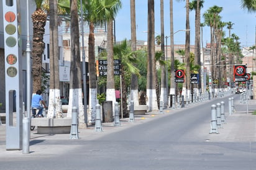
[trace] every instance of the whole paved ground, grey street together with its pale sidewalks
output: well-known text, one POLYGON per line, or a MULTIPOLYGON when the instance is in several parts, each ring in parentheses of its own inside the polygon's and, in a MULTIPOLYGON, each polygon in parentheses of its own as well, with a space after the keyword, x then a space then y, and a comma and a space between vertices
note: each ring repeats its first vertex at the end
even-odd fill
POLYGON ((6 151, 5 125, 0 126, 1 169, 255 169, 256 101, 241 104, 239 95, 225 96, 164 114, 136 115, 135 122, 121 119, 121 127, 103 123, 69 134, 31 132, 30 153, 6 151), (235 113, 228 114, 228 99, 235 113), (209 134, 211 105, 225 102, 226 124, 209 134), (247 114, 248 108, 248 114, 247 114))

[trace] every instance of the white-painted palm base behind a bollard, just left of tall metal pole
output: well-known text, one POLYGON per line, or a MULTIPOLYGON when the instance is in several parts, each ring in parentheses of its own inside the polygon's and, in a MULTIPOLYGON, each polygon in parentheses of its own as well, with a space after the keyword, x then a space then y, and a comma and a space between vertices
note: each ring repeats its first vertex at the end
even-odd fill
POLYGON ((67 117, 72 115, 72 107, 77 108, 78 123, 80 128, 85 128, 85 110, 83 105, 82 89, 70 89, 70 99, 68 102, 68 114, 67 117))

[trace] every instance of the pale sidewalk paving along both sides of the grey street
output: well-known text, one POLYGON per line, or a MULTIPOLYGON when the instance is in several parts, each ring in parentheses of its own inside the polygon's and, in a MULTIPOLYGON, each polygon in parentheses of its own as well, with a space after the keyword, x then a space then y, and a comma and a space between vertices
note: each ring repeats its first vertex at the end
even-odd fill
MULTIPOLYGON (((205 103, 201 103, 205 104, 205 103)), ((196 107, 196 105, 190 105, 183 109, 191 109, 196 107)), ((249 100, 249 114, 247 114, 247 105, 240 104, 239 101, 235 101, 235 113, 228 115, 226 112, 226 124, 224 128, 219 129, 219 134, 208 134, 207 132, 203 134, 206 140, 218 142, 239 142, 239 141, 256 141, 256 115, 252 115, 252 112, 256 110, 256 100, 249 100)), ((89 126, 86 129, 78 130, 78 140, 70 140, 70 134, 55 134, 55 135, 39 135, 37 134, 37 129, 30 133, 30 154, 31 156, 43 154, 53 154, 54 152, 63 153, 68 152, 75 148, 79 143, 84 143, 86 140, 96 140, 109 133, 118 132, 135 125, 139 125, 144 122, 149 122, 151 120, 157 119, 158 117, 164 117, 170 114, 175 114, 181 109, 172 110, 171 108, 163 110, 163 114, 159 112, 150 112, 145 115, 135 115, 135 122, 130 123, 129 118, 120 119, 121 126, 115 127, 114 122, 102 123, 103 132, 94 132, 94 125, 89 126), (44 145, 38 145, 39 143, 44 143, 44 145), (76 145, 77 144, 77 145, 76 145)), ((210 115, 209 115, 210 117, 210 115)), ((206 122, 202 126, 209 129, 210 122, 206 122)), ((0 158, 11 156, 19 157, 22 155, 22 150, 6 151, 6 125, 2 124, 0 126, 0 158), (3 153, 3 154, 2 154, 3 153)))

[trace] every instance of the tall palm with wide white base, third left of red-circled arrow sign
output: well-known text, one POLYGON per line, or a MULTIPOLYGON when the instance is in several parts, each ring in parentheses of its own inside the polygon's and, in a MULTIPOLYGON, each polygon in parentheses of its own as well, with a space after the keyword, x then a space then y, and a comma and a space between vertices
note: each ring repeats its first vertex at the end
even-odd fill
POLYGON ((155 89, 155 2, 148 0, 148 60, 147 60, 147 105, 149 111, 158 110, 157 93, 155 89))

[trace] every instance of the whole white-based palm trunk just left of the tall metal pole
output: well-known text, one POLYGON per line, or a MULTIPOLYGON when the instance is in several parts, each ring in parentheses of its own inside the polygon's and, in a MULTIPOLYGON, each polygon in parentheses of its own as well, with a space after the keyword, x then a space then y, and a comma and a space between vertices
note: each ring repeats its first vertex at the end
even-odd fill
POLYGON ((82 102, 81 69, 80 69, 80 43, 78 27, 78 2, 70 0, 70 35, 71 35, 71 64, 70 64, 70 101, 68 104, 68 116, 72 107, 76 107, 79 115, 79 127, 85 128, 85 112, 82 102))

